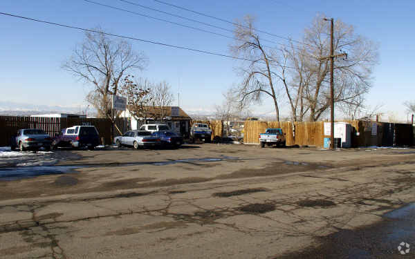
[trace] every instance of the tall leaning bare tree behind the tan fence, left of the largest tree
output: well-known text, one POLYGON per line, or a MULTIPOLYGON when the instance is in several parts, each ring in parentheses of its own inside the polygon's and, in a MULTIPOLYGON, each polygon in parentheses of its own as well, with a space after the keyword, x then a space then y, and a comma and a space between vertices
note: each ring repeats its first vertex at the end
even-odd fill
POLYGON ((275 74, 272 71, 275 63, 275 52, 262 45, 261 39, 253 26, 252 17, 246 16, 238 21, 234 28, 234 44, 230 51, 235 57, 246 59, 240 70, 243 82, 237 88, 241 106, 261 102, 265 97, 271 97, 275 106, 275 117, 279 122, 278 91, 275 84, 275 74))

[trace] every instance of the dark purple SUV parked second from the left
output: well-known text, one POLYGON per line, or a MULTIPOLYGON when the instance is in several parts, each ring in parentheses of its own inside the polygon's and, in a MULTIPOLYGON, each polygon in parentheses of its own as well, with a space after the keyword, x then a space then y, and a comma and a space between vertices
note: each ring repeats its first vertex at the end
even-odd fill
POLYGON ((93 150, 100 144, 100 134, 95 126, 73 126, 63 128, 62 131, 53 138, 52 148, 57 147, 87 147, 93 150))

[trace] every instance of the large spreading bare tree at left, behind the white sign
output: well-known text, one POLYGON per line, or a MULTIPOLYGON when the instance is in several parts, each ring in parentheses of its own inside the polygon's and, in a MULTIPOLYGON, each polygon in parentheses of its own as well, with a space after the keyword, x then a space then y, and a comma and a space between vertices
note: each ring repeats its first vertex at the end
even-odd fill
POLYGON ((99 117, 113 120, 110 95, 118 93, 122 76, 144 68, 147 58, 133 52, 127 41, 111 39, 100 28, 95 31, 86 32, 84 42, 76 46, 63 68, 93 85, 86 101, 95 107, 99 117))

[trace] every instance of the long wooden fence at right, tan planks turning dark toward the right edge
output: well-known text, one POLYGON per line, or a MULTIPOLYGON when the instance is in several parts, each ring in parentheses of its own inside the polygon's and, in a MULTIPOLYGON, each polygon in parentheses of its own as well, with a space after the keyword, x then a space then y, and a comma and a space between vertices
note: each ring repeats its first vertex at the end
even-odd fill
MULTIPOLYGON (((351 146, 412 146, 414 128, 411 124, 351 121, 351 146), (374 126, 375 124, 375 126, 374 126), (373 131, 374 127, 376 131, 373 131), (374 134, 376 132, 376 134, 374 134)), ((243 142, 259 144, 259 133, 266 128, 282 128, 286 133, 286 144, 292 146, 324 145, 324 122, 261 122, 246 121, 243 127, 243 142), (295 128, 295 132, 293 129, 295 128)))

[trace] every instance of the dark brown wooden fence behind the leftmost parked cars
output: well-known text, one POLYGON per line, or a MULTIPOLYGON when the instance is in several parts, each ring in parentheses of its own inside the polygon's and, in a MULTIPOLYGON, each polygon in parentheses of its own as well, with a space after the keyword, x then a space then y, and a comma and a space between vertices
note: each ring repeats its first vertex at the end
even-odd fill
MULTIPOLYGON (((95 126, 100 133, 100 138, 105 144, 111 143, 111 120, 102 118, 59 118, 59 117, 18 117, 0 116, 0 146, 10 145, 10 139, 20 128, 39 128, 55 137, 62 128, 75 125, 95 126)), ((128 122, 123 118, 116 119, 116 125, 120 131, 124 131, 128 122)), ((119 135, 114 129, 114 136, 119 135)))

